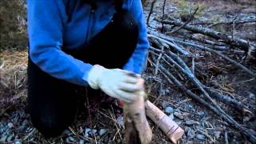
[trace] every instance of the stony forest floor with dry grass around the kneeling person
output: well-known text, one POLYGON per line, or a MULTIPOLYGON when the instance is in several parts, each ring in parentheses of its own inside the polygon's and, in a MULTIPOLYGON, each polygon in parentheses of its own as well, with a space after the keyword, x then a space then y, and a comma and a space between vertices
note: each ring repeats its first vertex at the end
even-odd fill
MULTIPOLYGON (((256 5, 254 1, 166 1, 165 14, 171 18, 186 18, 186 15, 199 6, 194 15, 194 23, 230 22, 230 20, 252 20, 253 22, 223 24, 213 29, 256 42, 256 5), (191 3, 190 3, 191 2, 191 3), (193 3, 198 5, 194 5, 193 3), (191 10, 190 10, 191 9, 191 10)), ((150 5, 145 8, 145 16, 150 11, 150 5)), ((156 2, 150 17, 150 26, 160 30, 162 24, 154 21, 154 17, 161 17, 162 1, 156 2)), ((211 24, 212 24, 211 23, 211 24)), ((210 24, 199 24, 209 26, 210 24)), ((164 30, 170 30, 168 26, 164 30)), ((190 34, 182 31, 182 34, 190 34)), ((180 37, 172 34, 173 37, 180 37)), ((205 38, 204 35, 196 35, 205 38)), ((198 54, 195 62, 195 73, 206 86, 216 86, 223 94, 229 95, 248 108, 256 112, 256 80, 240 69, 225 62, 222 58, 205 51, 190 50, 198 54)), ((250 70, 256 70, 255 59, 242 61, 243 56, 231 54, 232 58, 241 62, 250 70)), ((190 63, 189 61, 187 61, 190 63)), ((113 106, 98 107, 90 117, 83 111, 78 114, 72 126, 58 138, 43 138, 30 122, 26 114, 26 66, 27 51, 2 51, 0 54, 0 143, 121 143, 123 138, 122 114, 113 106), (86 115, 85 115, 86 114, 86 115)), ((185 130, 179 143, 252 143, 238 129, 223 120, 207 107, 190 98, 179 90, 178 86, 170 84, 161 73, 155 74, 155 68, 148 62, 146 72, 142 75, 146 80, 146 93, 162 111, 170 116, 185 130)), ((182 78, 185 86, 199 94, 197 88, 190 85, 190 81, 182 78)), ((230 114, 242 126, 254 133, 256 118, 242 114, 238 110, 218 102, 226 113, 230 114)), ((65 119, 63 119, 65 121, 65 119)), ((152 143, 171 143, 165 134, 153 122, 150 127, 154 137, 152 143)), ((256 134, 254 133, 254 136, 256 134)))

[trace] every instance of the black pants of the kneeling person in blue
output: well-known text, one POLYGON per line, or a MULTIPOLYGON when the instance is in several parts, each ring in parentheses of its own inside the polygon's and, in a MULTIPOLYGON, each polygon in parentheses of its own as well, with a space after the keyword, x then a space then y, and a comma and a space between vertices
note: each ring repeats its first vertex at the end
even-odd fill
MULTIPOLYGON (((122 10, 114 14, 112 21, 82 49, 63 51, 92 65, 122 68, 133 54, 137 42, 138 24, 128 12, 122 10)), ((70 126, 78 105, 75 91, 80 88, 81 86, 51 77, 29 58, 29 113, 39 132, 46 137, 54 137, 70 126)))

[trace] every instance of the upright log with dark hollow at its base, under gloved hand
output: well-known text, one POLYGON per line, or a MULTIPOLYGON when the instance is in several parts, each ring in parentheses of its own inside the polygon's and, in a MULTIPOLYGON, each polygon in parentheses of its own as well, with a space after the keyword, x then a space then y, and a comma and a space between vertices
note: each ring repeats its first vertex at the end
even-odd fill
POLYGON ((138 99, 123 106, 125 118, 125 144, 148 144, 152 139, 152 130, 146 120, 145 92, 138 92, 138 99))

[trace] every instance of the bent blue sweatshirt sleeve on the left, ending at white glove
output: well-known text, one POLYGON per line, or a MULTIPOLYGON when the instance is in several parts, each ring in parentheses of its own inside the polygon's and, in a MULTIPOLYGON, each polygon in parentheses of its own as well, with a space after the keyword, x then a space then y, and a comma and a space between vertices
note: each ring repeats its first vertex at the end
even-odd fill
POLYGON ((62 31, 65 6, 59 0, 27 0, 29 55, 41 70, 54 78, 86 86, 91 65, 64 53, 62 31))

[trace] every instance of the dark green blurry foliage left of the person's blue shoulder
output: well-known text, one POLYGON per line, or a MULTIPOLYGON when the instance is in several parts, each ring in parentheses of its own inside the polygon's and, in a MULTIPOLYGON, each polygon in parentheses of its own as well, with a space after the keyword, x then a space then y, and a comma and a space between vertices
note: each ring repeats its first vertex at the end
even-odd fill
POLYGON ((25 0, 0 0, 0 51, 27 45, 25 0))

